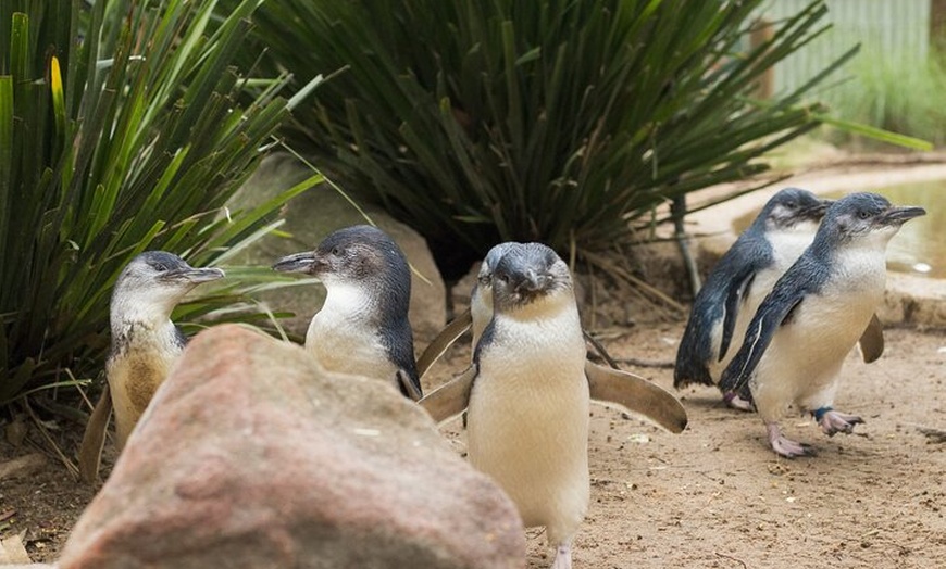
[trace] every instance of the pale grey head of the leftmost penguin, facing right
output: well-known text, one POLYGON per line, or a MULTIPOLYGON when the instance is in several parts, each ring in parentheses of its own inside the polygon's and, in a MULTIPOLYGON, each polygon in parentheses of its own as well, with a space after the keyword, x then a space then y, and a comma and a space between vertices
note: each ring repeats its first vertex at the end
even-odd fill
POLYGON ((119 318, 167 319, 191 289, 224 277, 219 268, 195 268, 164 251, 146 251, 115 281, 112 313, 119 318))

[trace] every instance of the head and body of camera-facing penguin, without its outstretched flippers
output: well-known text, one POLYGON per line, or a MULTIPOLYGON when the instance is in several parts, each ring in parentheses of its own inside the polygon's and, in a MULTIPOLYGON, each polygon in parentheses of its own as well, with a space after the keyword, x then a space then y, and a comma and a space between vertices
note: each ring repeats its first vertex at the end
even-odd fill
POLYGON ((564 262, 528 243, 493 268, 493 318, 476 345, 466 452, 519 508, 544 526, 553 567, 571 567, 571 543, 588 507, 585 339, 564 262))

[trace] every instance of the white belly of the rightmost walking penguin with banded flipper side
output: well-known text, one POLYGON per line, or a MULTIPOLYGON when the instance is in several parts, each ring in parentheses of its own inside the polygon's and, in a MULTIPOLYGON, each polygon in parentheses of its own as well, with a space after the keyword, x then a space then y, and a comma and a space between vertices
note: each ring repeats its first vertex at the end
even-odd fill
POLYGON ((833 403, 844 359, 883 301, 884 276, 863 270, 832 278, 775 331, 752 380, 764 420, 777 419, 792 404, 814 410, 833 403))

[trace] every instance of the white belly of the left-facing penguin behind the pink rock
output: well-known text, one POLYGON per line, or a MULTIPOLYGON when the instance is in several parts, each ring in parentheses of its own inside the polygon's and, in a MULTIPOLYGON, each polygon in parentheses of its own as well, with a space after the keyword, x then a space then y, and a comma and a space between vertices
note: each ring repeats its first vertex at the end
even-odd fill
POLYGON ((397 382, 376 330, 359 326, 359 318, 333 318, 323 309, 309 325, 306 349, 329 371, 397 382))

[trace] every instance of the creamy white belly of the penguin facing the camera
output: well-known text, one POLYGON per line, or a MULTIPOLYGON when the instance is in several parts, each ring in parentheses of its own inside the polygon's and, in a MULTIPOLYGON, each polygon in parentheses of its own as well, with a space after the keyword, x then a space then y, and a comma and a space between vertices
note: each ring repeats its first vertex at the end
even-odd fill
POLYGON ((544 342, 540 326, 519 326, 503 338, 521 342, 494 343, 481 355, 468 454, 509 494, 526 527, 546 526, 550 542, 560 543, 576 531, 588 504, 584 340, 544 342))

